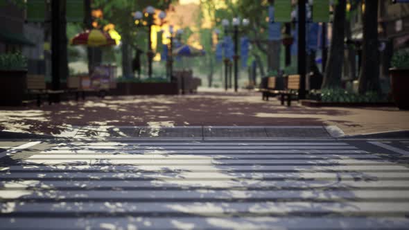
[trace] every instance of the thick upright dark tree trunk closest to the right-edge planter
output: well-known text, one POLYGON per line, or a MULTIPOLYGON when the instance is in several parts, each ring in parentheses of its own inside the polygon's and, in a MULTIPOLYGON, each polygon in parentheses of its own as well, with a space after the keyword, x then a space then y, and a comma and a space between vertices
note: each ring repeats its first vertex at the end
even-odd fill
POLYGON ((359 75, 359 93, 381 91, 379 85, 378 1, 365 1, 363 13, 362 67, 359 75))

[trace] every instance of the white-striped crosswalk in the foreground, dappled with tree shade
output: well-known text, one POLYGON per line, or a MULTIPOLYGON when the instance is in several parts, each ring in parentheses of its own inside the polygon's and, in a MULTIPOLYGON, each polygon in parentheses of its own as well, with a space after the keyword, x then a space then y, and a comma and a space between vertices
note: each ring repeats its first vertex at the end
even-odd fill
POLYGON ((403 157, 342 141, 71 141, 0 166, 5 229, 405 229, 403 157))

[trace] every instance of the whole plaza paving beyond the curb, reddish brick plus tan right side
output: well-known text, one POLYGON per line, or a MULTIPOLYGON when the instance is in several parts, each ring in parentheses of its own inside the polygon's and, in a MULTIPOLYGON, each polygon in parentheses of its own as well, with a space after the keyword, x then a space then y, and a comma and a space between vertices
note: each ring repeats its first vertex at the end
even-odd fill
POLYGON ((120 96, 59 105, 0 107, 0 130, 66 136, 74 126, 328 126, 345 135, 409 130, 409 112, 396 107, 292 107, 241 91, 184 96, 120 96))

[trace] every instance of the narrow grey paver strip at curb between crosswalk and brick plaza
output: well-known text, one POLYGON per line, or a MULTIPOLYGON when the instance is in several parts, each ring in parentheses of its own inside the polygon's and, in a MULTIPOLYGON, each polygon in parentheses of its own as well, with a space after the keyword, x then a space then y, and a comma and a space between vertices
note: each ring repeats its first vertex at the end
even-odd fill
POLYGON ((74 126, 64 131, 64 137, 73 139, 288 139, 335 138, 343 136, 336 126, 74 126))

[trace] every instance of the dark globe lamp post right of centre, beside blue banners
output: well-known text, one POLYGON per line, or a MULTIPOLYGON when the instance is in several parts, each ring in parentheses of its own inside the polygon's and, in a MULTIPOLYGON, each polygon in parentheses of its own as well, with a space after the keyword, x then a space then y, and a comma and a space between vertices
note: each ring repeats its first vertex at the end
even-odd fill
MULTIPOLYGON (((248 26, 248 24, 250 23, 250 21, 248 19, 243 19, 242 24, 243 26, 248 26)), ((233 60, 234 60, 234 91, 237 91, 238 88, 238 59, 240 58, 240 56, 238 55, 238 34, 241 33, 242 31, 239 30, 238 26, 240 26, 241 21, 238 17, 234 17, 234 19, 232 20, 232 26, 233 26, 233 30, 229 30, 228 26, 229 26, 229 21, 227 19, 223 19, 222 20, 222 25, 225 28, 225 35, 227 35, 227 33, 233 33, 234 36, 234 56, 233 56, 233 60)), ((226 66, 227 66, 227 61, 225 60, 226 66)), ((227 78, 226 78, 227 80, 227 78)))

